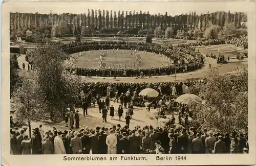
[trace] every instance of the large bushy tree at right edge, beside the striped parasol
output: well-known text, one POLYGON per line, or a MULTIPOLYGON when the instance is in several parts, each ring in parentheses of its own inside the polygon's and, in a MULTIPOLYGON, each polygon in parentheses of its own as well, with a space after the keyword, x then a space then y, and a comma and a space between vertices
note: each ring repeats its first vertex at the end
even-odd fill
POLYGON ((216 70, 211 70, 209 75, 206 83, 199 87, 199 96, 205 103, 192 106, 192 124, 221 133, 247 130, 248 71, 241 69, 220 76, 216 70))

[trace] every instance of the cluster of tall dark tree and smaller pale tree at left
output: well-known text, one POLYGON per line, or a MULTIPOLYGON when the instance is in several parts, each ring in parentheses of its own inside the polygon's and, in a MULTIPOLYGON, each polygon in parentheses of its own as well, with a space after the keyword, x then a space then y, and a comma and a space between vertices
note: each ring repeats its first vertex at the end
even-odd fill
POLYGON ((28 124, 30 134, 32 122, 62 120, 66 108, 78 101, 81 89, 80 78, 66 70, 74 65, 63 60, 66 54, 55 42, 38 41, 31 73, 16 81, 16 73, 11 72, 10 78, 14 121, 28 124))

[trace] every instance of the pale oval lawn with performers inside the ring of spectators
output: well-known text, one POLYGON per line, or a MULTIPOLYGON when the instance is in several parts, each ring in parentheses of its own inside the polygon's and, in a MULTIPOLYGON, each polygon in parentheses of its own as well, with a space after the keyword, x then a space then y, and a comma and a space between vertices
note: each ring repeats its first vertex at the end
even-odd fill
MULTIPOLYGON (((98 62, 99 57, 102 52, 94 51, 93 53, 87 52, 86 55, 81 55, 78 57, 76 61, 77 67, 86 67, 86 68, 98 68, 98 62)), ((108 68, 109 65, 115 64, 115 67, 118 67, 118 64, 120 64, 120 67, 123 68, 124 65, 128 67, 128 65, 132 63, 135 63, 135 68, 150 68, 150 67, 160 67, 161 64, 166 65, 166 60, 163 57, 158 57, 158 55, 153 55, 152 53, 143 53, 143 51, 137 52, 140 57, 143 60, 143 64, 141 66, 137 66, 135 56, 131 54, 125 53, 119 53, 118 51, 115 51, 114 53, 108 54, 106 57, 104 57, 104 61, 106 62, 106 67, 108 68)), ((75 53, 73 55, 77 55, 78 53, 75 53)))

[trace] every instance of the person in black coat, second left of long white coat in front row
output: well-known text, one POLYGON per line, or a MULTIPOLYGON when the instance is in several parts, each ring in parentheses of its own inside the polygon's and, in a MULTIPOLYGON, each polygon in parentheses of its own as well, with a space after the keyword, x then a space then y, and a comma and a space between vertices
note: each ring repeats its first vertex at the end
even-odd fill
POLYGON ((32 154, 41 154, 41 135, 39 133, 39 129, 35 128, 33 131, 33 135, 31 137, 31 142, 32 142, 32 154))

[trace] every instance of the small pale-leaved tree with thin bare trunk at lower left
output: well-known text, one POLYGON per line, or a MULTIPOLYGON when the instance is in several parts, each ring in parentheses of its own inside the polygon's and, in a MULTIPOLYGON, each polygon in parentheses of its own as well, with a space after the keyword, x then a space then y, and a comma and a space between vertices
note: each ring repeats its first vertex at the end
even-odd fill
POLYGON ((13 94, 14 122, 27 123, 31 137, 31 123, 44 119, 45 112, 41 109, 40 95, 32 78, 24 77, 22 86, 13 94))

